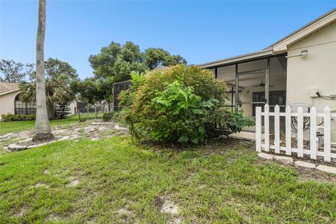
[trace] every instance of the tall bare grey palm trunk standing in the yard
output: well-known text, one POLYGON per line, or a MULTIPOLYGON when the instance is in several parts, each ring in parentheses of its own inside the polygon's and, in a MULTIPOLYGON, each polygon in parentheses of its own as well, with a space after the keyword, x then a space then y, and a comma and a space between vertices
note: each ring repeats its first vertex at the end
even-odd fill
POLYGON ((38 1, 36 38, 36 123, 33 141, 52 139, 45 100, 44 77, 45 0, 38 1))

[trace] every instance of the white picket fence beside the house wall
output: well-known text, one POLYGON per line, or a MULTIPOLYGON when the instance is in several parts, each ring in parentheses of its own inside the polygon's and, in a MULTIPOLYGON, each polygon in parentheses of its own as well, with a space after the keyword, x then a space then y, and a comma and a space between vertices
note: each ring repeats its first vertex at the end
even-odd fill
POLYGON ((325 107, 323 113, 316 113, 316 109, 311 107, 309 113, 304 113, 302 107, 297 109, 297 113, 290 111, 290 106, 286 106, 286 112, 280 112, 280 107, 276 105, 274 112, 269 112, 269 105, 265 104, 265 111, 261 111, 261 107, 255 109, 255 146, 258 152, 269 152, 270 149, 274 150, 274 153, 280 153, 280 151, 286 152, 286 155, 292 155, 297 153, 297 157, 303 157, 304 154, 310 155, 311 159, 316 160, 316 156, 324 158, 325 162, 330 162, 331 158, 336 158, 336 153, 332 153, 331 145, 331 118, 336 118, 336 113, 330 113, 330 108, 325 107), (264 117, 264 142, 262 143, 262 116, 264 117), (274 116, 274 142, 269 141, 269 117, 274 116), (286 146, 280 146, 280 117, 286 117, 286 146), (291 118, 297 118, 297 148, 291 147, 292 132, 291 132, 291 118), (304 148, 304 117, 310 118, 310 148, 304 148), (317 118, 323 118, 324 125, 317 126, 317 118), (316 131, 323 129, 324 142, 323 148, 318 148, 318 141, 316 138, 316 131))

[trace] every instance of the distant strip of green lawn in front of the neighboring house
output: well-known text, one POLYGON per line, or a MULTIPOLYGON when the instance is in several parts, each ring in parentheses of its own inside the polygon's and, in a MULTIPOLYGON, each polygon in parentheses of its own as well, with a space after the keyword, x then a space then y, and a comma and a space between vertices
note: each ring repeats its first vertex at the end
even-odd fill
MULTIPOLYGON (((65 119, 50 120, 50 125, 55 127, 57 125, 69 125, 71 123, 78 123, 78 115, 69 116, 65 119)), ((0 121, 0 135, 10 132, 21 132, 34 129, 35 120, 20 120, 1 122, 0 121)))

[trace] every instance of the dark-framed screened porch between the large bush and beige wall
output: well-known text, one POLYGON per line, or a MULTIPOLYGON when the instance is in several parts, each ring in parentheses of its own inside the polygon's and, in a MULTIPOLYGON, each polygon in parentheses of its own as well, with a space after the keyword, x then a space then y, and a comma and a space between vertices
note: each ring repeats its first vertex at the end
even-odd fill
MULTIPOLYGON (((244 115, 255 118, 255 107, 269 104, 269 110, 274 111, 278 104, 281 111, 286 107, 286 55, 267 55, 265 57, 237 60, 212 66, 216 78, 228 85, 230 100, 228 106, 233 110, 242 109, 244 115), (238 91, 236 91, 238 90, 238 91)), ((271 127, 273 121, 270 120, 271 127)), ((254 127, 245 128, 253 131, 254 127)), ((271 128, 272 130, 272 128, 271 128)))

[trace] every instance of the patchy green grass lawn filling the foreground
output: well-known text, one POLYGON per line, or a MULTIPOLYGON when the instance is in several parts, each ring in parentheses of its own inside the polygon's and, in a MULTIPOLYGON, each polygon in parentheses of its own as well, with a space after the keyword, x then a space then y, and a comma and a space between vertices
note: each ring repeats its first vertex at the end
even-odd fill
POLYGON ((248 147, 174 151, 113 137, 0 155, 0 223, 336 223, 335 183, 248 147), (162 200, 179 214, 160 212, 162 200))

